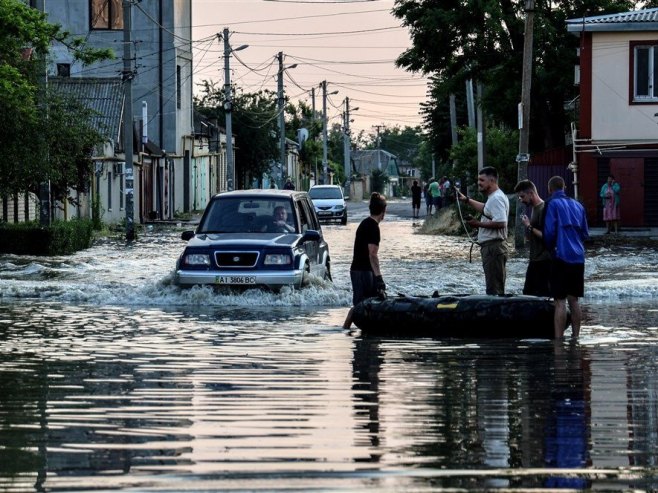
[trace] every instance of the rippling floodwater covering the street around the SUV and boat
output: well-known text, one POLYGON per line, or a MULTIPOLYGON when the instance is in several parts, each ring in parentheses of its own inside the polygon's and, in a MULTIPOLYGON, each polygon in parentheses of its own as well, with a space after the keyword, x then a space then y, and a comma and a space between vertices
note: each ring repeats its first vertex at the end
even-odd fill
MULTIPOLYGON (((658 490, 655 250, 589 252, 577 342, 368 338, 364 214, 279 294, 179 291, 180 230, 0 256, 0 491, 658 490)), ((465 239, 381 228, 389 294, 484 291, 465 239)))

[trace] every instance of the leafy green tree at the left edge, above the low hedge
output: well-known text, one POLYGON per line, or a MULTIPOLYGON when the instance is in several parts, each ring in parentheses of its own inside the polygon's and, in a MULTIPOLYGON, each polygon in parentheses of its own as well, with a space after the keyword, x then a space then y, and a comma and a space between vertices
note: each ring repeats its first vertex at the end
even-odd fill
POLYGON ((36 191, 50 181, 64 199, 84 187, 91 150, 100 134, 91 112, 52 97, 45 85, 45 56, 51 43, 72 50, 83 64, 112 57, 89 48, 42 12, 18 0, 0 0, 0 194, 36 191))

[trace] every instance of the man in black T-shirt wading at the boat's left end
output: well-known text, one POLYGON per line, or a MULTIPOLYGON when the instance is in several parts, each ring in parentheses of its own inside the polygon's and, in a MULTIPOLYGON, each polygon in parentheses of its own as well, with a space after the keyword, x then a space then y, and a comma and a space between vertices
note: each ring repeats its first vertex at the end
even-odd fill
MULTIPOLYGON (((366 217, 356 229, 354 253, 350 267, 352 281, 352 304, 374 296, 386 296, 386 284, 379 270, 379 223, 386 214, 386 198, 373 192, 370 196, 370 216, 366 217)), ((345 318, 343 327, 352 326, 352 307, 345 318)))

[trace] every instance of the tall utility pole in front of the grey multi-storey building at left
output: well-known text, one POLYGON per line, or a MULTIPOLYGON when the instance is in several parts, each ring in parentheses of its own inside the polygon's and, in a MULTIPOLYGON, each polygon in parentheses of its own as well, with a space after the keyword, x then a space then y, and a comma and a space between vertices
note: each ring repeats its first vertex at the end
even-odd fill
POLYGON ((133 93, 131 0, 123 0, 123 149, 126 159, 126 241, 135 239, 135 175, 133 167, 133 93))

